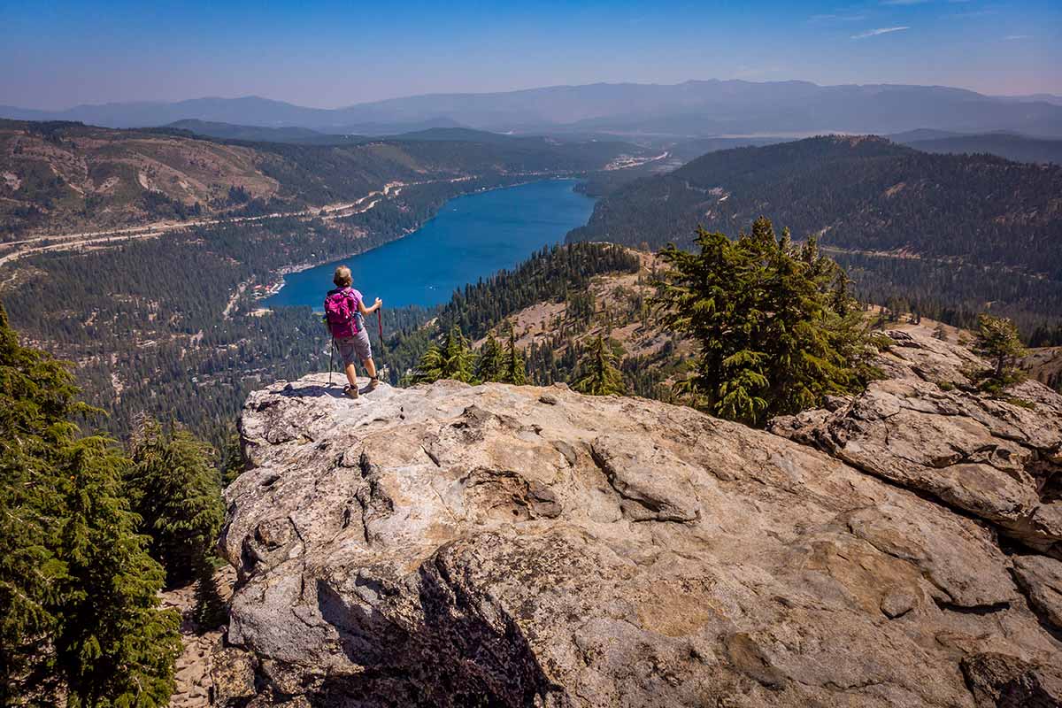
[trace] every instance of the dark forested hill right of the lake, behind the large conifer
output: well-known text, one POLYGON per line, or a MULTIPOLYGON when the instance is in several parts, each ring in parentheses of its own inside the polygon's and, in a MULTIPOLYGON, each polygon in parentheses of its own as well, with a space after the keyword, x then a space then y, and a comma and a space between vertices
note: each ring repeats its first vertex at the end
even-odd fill
POLYGON ((828 136, 709 153, 598 202, 569 241, 689 246, 758 215, 819 236, 858 291, 1062 315, 1062 168, 828 136))

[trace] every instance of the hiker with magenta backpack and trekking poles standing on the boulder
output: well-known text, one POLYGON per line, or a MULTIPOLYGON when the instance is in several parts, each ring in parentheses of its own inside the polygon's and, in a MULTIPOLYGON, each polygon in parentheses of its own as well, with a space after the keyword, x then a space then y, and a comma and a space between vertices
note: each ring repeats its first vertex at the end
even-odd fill
POLYGON ((365 317, 380 309, 383 301, 379 297, 372 307, 365 303, 357 290, 352 288, 354 278, 350 269, 340 265, 332 277, 335 290, 329 290, 325 296, 325 324, 332 335, 332 346, 339 349, 343 359, 347 385, 343 393, 350 398, 358 397, 358 377, 354 367, 355 358, 361 360, 361 365, 369 374, 369 390, 372 391, 380 382, 376 376, 376 364, 373 362, 373 349, 369 344, 369 332, 365 331, 365 317))

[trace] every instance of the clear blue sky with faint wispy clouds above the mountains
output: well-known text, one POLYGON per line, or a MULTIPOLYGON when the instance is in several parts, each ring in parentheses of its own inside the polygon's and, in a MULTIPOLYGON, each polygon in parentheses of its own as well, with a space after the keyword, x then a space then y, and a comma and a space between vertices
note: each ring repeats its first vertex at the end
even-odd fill
POLYGON ((16 2, 0 104, 430 92, 690 79, 1062 94, 1062 2, 16 2))

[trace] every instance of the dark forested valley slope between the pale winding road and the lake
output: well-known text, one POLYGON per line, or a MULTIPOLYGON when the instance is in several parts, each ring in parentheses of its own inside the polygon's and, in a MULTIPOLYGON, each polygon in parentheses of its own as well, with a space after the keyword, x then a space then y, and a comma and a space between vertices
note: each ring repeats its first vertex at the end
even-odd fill
MULTIPOLYGON (((254 286, 398 238, 447 200, 498 179, 412 186, 330 221, 216 224, 114 248, 31 255, 4 269, 0 299, 30 342, 79 365, 89 401, 110 413, 112 432, 127 434, 147 412, 172 415, 221 445, 247 392, 328 365, 320 318, 309 308, 253 315, 254 286)), ((384 314, 389 329, 427 318, 415 310, 384 314)))

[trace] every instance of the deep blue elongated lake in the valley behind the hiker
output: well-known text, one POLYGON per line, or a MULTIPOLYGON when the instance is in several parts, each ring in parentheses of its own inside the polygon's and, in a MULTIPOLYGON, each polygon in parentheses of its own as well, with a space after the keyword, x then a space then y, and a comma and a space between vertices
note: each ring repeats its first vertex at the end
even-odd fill
POLYGON ((450 200, 407 237, 285 276, 285 287, 263 305, 320 309, 341 264, 350 267, 354 287, 369 304, 376 297, 384 307, 446 303, 458 288, 511 269, 585 224, 594 200, 573 191, 575 185, 550 179, 450 200))

